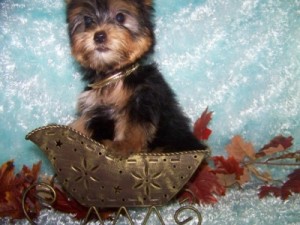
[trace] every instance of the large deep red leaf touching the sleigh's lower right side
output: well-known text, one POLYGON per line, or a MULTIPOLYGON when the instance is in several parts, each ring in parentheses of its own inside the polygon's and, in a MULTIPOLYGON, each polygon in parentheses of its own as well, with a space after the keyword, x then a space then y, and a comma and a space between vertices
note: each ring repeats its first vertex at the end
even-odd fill
MULTIPOLYGON (((225 187, 218 182, 217 176, 208 165, 201 166, 196 172, 196 176, 186 185, 186 189, 191 191, 198 203, 217 203, 216 196, 225 195, 225 187)), ((179 199, 188 198, 188 193, 183 192, 179 199)))

